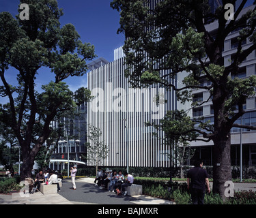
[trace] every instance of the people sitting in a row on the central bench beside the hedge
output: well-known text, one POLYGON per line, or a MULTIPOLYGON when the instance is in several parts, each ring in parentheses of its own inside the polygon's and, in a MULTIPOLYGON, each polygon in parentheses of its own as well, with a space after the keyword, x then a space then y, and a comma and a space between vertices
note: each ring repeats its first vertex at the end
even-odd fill
POLYGON ((112 190, 113 193, 126 196, 127 187, 131 186, 133 181, 133 176, 128 174, 128 172, 124 172, 124 174, 122 174, 122 170, 117 172, 116 170, 112 171, 108 168, 106 170, 99 168, 97 176, 94 180, 94 184, 95 186, 100 187, 100 189, 105 188, 106 190, 108 189, 109 185, 109 191, 112 190))

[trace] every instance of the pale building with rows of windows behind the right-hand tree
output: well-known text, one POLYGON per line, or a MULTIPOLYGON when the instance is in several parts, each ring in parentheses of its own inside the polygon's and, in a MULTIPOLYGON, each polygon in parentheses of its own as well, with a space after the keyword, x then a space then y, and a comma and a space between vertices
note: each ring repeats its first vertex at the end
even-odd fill
MULTIPOLYGON (((251 10, 253 6, 246 7, 242 10, 242 14, 246 13, 248 10, 251 10)), ((205 28, 212 35, 216 34, 218 28, 218 22, 214 21, 205 25, 205 28)), ((231 64, 233 55, 236 53, 238 48, 238 37, 239 30, 233 31, 230 33, 224 43, 223 47, 223 59, 224 65, 228 66, 231 64)), ((243 48, 248 48, 252 45, 252 42, 249 42, 248 38, 242 42, 243 48)), ((205 61, 205 60, 203 60, 205 61)), ((246 78, 251 75, 255 75, 255 64, 256 64, 256 54, 255 50, 248 55, 246 61, 242 62, 240 65, 240 71, 238 74, 231 74, 231 78, 246 78)), ((208 81, 202 80, 201 86, 208 85, 208 81)), ((194 102, 204 102, 210 97, 209 91, 204 89, 195 89, 193 90, 193 101, 194 102)), ((244 102, 245 114, 242 116, 243 125, 252 125, 256 126, 256 104, 255 97, 246 99, 244 102)), ((209 101, 197 108, 193 108, 190 113, 192 118, 197 116, 204 116, 205 121, 210 120, 211 123, 214 122, 212 101, 209 101)), ((241 118, 236 121, 236 123, 241 123, 241 118)), ((195 156, 188 161, 188 164, 193 163, 194 159, 201 158, 203 159, 205 165, 212 165, 212 146, 213 142, 190 142, 190 145, 196 148, 195 156)), ((242 163, 246 166, 256 166, 256 131, 250 129, 242 129, 242 163)), ((233 127, 231 129, 231 164, 236 166, 240 165, 240 128, 233 127)))

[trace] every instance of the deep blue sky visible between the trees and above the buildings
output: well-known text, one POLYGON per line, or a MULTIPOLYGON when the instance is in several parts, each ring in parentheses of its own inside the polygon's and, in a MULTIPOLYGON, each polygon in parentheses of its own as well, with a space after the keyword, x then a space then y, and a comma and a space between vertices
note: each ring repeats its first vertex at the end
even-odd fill
MULTIPOLYGON (((19 2, 19 0, 0 0, 0 12, 8 11, 15 16, 18 14, 19 2)), ((61 26, 72 23, 82 42, 94 44, 98 57, 113 61, 113 50, 124 44, 124 35, 117 35, 119 13, 110 7, 111 0, 59 0, 58 3, 64 12, 60 19, 61 26)), ((16 83, 17 73, 15 69, 9 69, 8 82, 16 83)), ((40 91, 42 84, 47 84, 51 80, 54 80, 54 74, 47 68, 40 69, 36 89, 40 91)), ((87 87, 87 75, 68 78, 65 82, 70 85, 72 91, 76 91, 79 87, 87 87)), ((0 103, 3 104, 6 100, 1 98, 0 103)))

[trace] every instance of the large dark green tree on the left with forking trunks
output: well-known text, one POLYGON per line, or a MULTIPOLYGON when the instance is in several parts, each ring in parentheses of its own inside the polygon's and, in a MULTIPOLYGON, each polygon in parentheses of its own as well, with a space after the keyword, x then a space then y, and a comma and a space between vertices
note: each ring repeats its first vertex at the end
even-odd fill
MULTIPOLYGON (((20 2, 21 3, 21 2, 20 2)), ((50 136, 51 121, 76 106, 73 93, 63 80, 83 76, 86 61, 94 59, 94 46, 81 42, 74 25, 60 27, 63 15, 56 0, 24 0, 29 20, 16 19, 9 12, 0 14, 0 93, 9 103, 1 107, 0 119, 17 138, 23 155, 21 178, 31 177, 36 155, 50 136), (9 84, 9 67, 17 70, 18 85, 9 84), (35 91, 41 67, 55 74, 55 81, 35 91)))

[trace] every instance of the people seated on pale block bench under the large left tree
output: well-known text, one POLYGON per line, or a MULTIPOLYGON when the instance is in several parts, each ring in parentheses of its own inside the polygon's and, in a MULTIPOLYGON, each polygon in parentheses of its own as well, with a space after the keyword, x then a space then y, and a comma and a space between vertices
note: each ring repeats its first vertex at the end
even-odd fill
POLYGON ((61 181, 62 176, 57 171, 53 171, 51 169, 47 169, 43 172, 43 170, 39 170, 38 174, 35 175, 35 191, 40 190, 40 185, 45 183, 46 185, 56 184, 57 191, 60 191, 59 181, 61 181))

